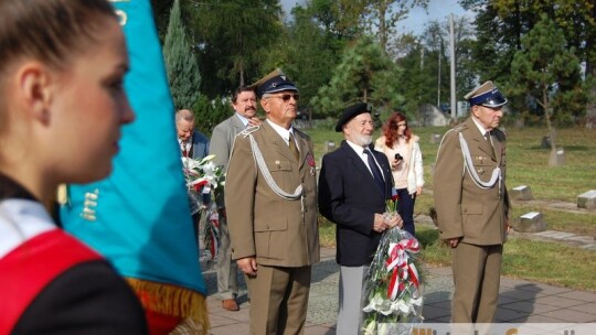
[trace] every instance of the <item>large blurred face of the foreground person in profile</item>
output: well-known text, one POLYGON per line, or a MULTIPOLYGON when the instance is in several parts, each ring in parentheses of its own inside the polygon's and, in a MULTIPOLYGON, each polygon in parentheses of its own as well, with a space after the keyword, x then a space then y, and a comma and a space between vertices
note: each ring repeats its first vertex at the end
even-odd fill
POLYGON ((125 36, 116 20, 106 22, 67 69, 49 71, 51 120, 43 139, 54 149, 51 173, 58 182, 106 177, 119 151, 120 127, 135 119, 124 90, 129 67, 125 36))

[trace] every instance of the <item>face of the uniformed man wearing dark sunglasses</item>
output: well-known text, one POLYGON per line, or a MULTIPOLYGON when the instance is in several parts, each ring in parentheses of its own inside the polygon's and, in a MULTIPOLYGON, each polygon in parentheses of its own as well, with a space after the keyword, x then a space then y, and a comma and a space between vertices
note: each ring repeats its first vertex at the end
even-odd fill
POLYGON ((260 99, 260 105, 265 112, 267 112, 269 120, 289 129, 291 121, 296 119, 299 99, 300 96, 297 91, 283 90, 260 99))

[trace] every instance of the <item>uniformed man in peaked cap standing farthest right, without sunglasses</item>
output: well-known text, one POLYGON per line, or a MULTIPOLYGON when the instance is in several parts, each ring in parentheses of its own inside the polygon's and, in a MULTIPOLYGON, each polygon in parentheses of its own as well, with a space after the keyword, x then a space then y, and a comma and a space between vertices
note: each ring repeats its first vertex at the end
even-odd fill
POLYGON ((497 129, 507 99, 487 82, 466 99, 470 117, 445 133, 434 197, 440 238, 451 247, 454 323, 492 323, 509 229, 505 136, 497 129))

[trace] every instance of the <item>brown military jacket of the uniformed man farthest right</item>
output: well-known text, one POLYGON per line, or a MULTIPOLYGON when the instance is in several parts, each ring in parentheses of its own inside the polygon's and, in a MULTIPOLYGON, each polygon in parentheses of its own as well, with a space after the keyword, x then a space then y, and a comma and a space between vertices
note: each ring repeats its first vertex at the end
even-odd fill
POLYGON ((505 240, 509 196, 505 181, 505 137, 498 129, 491 141, 478 130, 470 117, 447 131, 437 153, 434 175, 434 197, 441 239, 461 237, 462 242, 489 246, 505 240), (487 182, 496 168, 501 169, 502 182, 488 190, 480 188, 466 170, 459 133, 464 136, 473 162, 473 170, 487 182))

